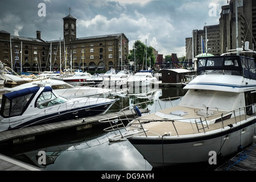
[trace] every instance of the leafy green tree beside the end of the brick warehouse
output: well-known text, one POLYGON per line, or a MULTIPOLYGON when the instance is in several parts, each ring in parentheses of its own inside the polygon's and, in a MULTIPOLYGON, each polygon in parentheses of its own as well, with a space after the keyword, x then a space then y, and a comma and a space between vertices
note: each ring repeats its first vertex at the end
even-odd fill
MULTIPOLYGON (((137 65, 136 71, 141 69, 146 69, 146 46, 140 41, 137 40, 134 43, 135 45, 135 63, 137 65)), ((134 47, 130 50, 130 54, 128 55, 128 59, 130 61, 134 61, 134 47)), ((153 48, 147 47, 147 67, 151 67, 155 65, 155 56, 153 53, 153 48)))

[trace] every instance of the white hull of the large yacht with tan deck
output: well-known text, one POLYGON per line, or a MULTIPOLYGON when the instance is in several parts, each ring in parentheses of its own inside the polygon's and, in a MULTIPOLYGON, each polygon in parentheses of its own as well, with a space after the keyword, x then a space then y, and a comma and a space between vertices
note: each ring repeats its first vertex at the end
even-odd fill
POLYGON ((249 146, 255 134, 255 122, 252 119, 243 125, 237 124, 228 130, 210 134, 187 137, 131 137, 129 142, 152 167, 208 162, 212 154, 228 156, 237 153, 239 146, 249 146))

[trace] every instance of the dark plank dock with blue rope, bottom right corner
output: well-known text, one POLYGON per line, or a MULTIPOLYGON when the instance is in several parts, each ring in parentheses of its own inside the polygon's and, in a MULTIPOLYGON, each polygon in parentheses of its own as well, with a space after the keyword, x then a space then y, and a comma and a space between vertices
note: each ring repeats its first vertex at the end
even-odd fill
POLYGON ((256 143, 251 144, 215 171, 256 171, 256 143))

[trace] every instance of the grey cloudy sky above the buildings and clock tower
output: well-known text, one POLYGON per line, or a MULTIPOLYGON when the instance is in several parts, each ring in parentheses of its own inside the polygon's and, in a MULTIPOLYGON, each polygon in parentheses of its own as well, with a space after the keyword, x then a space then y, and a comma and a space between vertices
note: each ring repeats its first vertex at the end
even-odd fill
POLYGON ((147 40, 160 54, 181 57, 185 38, 205 23, 218 24, 224 5, 226 0, 1 0, 0 30, 32 38, 39 30, 43 40, 63 39, 63 18, 71 7, 77 38, 123 32, 130 49, 136 40, 147 40))

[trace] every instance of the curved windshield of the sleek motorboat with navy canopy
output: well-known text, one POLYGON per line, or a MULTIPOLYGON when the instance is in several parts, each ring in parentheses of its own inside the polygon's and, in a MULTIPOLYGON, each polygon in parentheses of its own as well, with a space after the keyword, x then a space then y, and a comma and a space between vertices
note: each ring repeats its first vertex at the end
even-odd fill
POLYGON ((36 106, 40 109, 43 109, 44 107, 62 104, 67 101, 67 98, 58 96, 56 93, 43 92, 36 101, 36 106))

